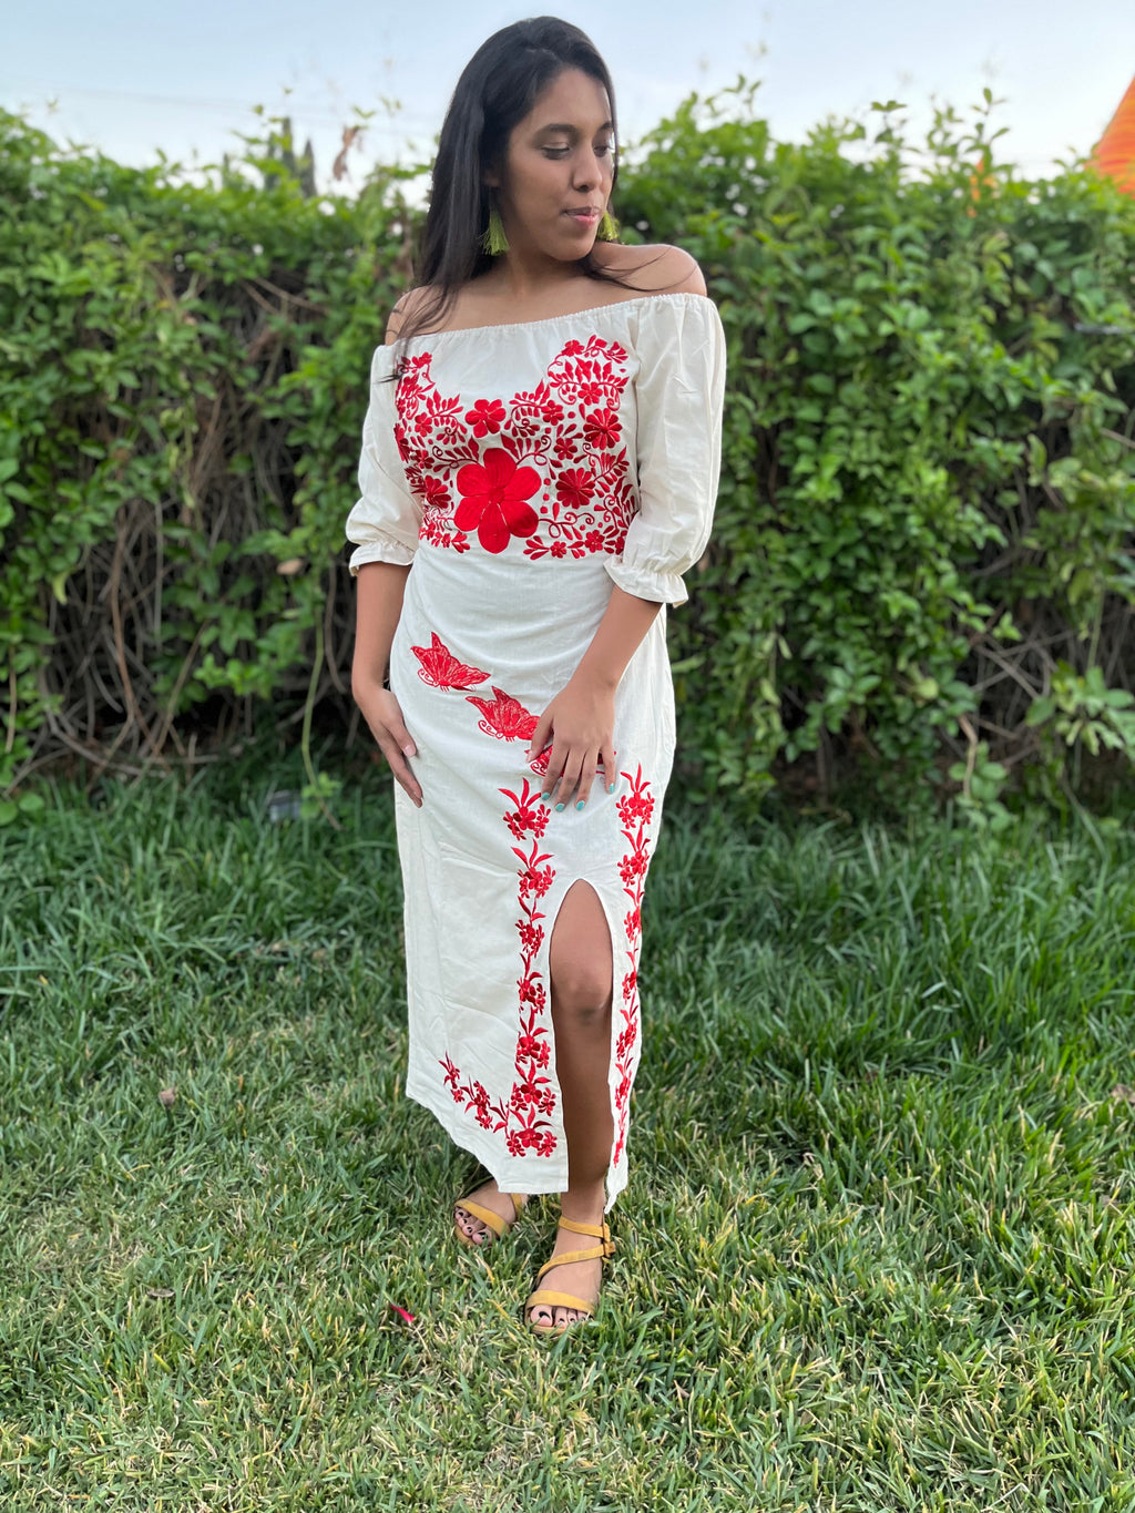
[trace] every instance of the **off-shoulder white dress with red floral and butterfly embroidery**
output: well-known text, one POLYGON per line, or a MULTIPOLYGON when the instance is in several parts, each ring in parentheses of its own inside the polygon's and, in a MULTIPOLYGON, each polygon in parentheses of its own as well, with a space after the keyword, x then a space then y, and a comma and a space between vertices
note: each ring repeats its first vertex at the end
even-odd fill
POLYGON ((504 1192, 560 1192, 568 1145, 548 944, 574 882, 614 961, 607 1207, 627 1185, 640 1055, 642 902, 673 760, 666 610, 619 682, 617 788, 537 799, 537 716, 575 672, 611 584, 683 604, 710 534, 725 342, 693 294, 380 346, 347 536, 351 572, 413 564, 390 687, 424 802, 395 787, 406 894, 407 1095, 504 1192))

